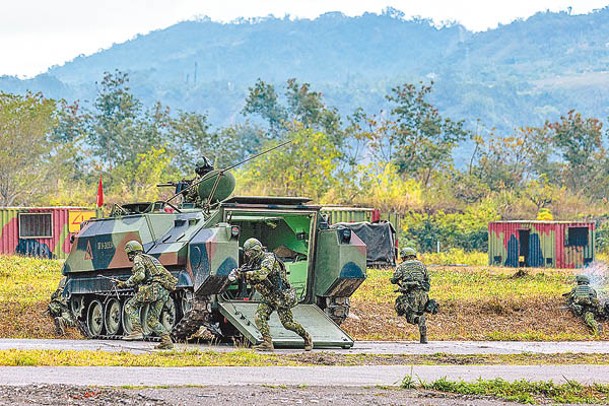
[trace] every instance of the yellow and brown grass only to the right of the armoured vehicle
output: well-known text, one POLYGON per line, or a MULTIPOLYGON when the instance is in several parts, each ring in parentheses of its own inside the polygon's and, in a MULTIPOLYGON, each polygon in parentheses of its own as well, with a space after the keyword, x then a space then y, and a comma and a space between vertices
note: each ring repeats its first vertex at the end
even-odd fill
MULTIPOLYGON (((521 278, 514 273, 488 266, 431 268, 430 296, 440 303, 440 313, 428 317, 430 339, 598 339, 565 308, 561 295, 572 287, 573 270, 529 269, 521 278)), ((353 317, 343 327, 355 339, 418 339, 416 326, 395 314, 390 277, 391 271, 370 270, 351 298, 353 317)))

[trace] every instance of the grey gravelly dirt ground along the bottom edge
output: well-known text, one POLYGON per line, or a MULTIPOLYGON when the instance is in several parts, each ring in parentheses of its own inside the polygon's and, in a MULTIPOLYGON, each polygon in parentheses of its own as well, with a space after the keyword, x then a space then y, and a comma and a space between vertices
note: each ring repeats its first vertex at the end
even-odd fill
POLYGON ((0 386, 0 405, 509 405, 492 398, 428 390, 358 387, 206 386, 108 389, 0 386))

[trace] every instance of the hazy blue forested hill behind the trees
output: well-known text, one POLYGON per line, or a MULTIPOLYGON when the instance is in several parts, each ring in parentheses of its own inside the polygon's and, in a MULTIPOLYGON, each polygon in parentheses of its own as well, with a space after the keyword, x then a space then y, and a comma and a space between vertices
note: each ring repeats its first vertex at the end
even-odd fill
POLYGON ((503 131, 540 125, 575 109, 609 116, 609 8, 587 15, 538 13, 481 33, 459 25, 383 15, 315 20, 265 18, 176 24, 30 80, 0 78, 0 90, 92 100, 104 71, 129 73, 146 103, 206 112, 212 124, 241 120, 256 79, 308 82, 328 105, 349 114, 384 108, 402 83, 434 81, 442 114, 503 131))

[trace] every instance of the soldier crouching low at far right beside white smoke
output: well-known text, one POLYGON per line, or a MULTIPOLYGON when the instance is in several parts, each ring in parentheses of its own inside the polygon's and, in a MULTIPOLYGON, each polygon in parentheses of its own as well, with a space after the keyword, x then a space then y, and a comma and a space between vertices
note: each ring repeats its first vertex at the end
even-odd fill
POLYGON ((595 316, 603 316, 603 306, 599 303, 596 290, 590 286, 590 278, 587 275, 577 275, 575 281, 577 286, 563 296, 567 297, 573 314, 582 317, 592 333, 598 335, 602 332, 602 325, 596 321, 595 316))

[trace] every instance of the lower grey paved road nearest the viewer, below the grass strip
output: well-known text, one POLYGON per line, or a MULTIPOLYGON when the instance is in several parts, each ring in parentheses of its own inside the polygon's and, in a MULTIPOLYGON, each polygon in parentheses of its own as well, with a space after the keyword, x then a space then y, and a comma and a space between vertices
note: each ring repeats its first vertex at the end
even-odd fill
POLYGON ((358 366, 358 367, 0 367, 0 385, 66 384, 97 386, 308 385, 392 386, 406 376, 415 382, 503 378, 508 381, 567 379, 583 384, 609 383, 609 366, 358 366))

